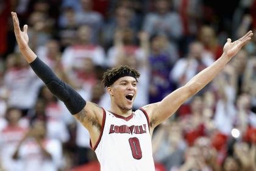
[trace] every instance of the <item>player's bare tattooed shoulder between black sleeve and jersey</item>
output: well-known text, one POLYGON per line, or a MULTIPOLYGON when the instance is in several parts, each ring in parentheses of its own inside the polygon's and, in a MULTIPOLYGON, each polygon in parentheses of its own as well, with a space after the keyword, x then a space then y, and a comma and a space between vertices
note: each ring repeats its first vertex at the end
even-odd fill
POLYGON ((101 106, 87 102, 85 107, 77 114, 74 114, 79 122, 81 122, 88 130, 92 127, 101 128, 103 119, 103 109, 101 106))

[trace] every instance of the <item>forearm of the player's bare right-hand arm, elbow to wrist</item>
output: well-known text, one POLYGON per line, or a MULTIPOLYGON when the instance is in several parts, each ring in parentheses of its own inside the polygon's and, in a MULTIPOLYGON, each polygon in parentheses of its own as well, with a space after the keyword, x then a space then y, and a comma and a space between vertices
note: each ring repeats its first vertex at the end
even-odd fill
POLYGON ((215 61, 215 63, 195 75, 186 84, 186 86, 189 86, 193 92, 191 96, 196 94, 196 92, 200 91, 202 88, 204 88, 205 85, 211 82, 216 77, 216 75, 221 72, 224 66, 226 66, 230 59, 231 58, 227 57, 225 54, 222 54, 221 57, 215 61))

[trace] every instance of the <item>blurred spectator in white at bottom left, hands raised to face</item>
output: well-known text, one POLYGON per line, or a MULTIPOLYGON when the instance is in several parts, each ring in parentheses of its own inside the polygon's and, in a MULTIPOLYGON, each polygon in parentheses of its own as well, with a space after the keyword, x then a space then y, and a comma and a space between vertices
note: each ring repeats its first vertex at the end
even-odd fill
POLYGON ((55 139, 46 139, 45 123, 37 120, 19 142, 13 158, 23 162, 24 171, 57 171, 62 161, 62 145, 55 139))

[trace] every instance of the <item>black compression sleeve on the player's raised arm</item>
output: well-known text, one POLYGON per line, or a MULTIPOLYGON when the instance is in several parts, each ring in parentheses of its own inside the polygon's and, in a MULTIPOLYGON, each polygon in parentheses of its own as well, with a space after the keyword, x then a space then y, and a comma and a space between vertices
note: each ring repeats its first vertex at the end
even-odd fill
POLYGON ((65 103, 71 114, 77 114, 86 105, 85 100, 67 83, 60 80, 40 58, 29 64, 48 89, 65 103))

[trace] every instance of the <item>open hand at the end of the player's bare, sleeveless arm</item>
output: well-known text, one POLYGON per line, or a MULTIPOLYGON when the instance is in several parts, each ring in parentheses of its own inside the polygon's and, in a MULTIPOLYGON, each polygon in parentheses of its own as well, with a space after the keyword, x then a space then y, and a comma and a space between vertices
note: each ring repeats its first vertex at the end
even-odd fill
POLYGON ((223 53, 227 55, 227 57, 232 58, 237 54, 237 52, 246 44, 249 40, 251 40, 252 31, 247 32, 243 37, 240 39, 231 42, 231 39, 227 39, 227 43, 224 45, 223 53))

